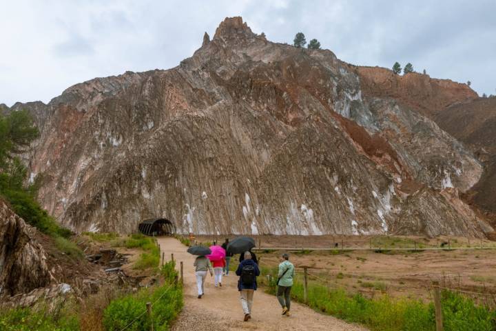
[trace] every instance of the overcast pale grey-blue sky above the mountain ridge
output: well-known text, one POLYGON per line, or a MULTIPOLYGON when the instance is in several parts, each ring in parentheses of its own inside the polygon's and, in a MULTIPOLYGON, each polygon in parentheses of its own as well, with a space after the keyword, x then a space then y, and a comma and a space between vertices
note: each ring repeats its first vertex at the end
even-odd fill
POLYGON ((0 0, 0 103, 46 103, 94 77, 172 68, 238 15, 271 41, 301 31, 349 63, 411 62, 496 94, 495 0, 0 0))

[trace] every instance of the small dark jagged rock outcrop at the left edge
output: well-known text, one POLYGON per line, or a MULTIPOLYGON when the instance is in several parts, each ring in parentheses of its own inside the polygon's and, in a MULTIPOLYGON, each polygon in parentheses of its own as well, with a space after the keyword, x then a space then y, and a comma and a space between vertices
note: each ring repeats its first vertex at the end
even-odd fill
POLYGON ((0 297, 30 292, 54 281, 35 232, 0 200, 0 297))

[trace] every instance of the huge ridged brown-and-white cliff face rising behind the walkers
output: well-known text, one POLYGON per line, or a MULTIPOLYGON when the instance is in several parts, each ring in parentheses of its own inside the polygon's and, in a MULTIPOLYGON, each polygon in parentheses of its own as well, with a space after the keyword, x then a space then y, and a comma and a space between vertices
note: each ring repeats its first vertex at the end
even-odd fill
POLYGON ((481 176, 473 154, 360 79, 329 50, 271 43, 237 17, 176 68, 14 109, 41 128, 39 198, 76 231, 148 217, 205 234, 492 231, 458 198, 481 176))

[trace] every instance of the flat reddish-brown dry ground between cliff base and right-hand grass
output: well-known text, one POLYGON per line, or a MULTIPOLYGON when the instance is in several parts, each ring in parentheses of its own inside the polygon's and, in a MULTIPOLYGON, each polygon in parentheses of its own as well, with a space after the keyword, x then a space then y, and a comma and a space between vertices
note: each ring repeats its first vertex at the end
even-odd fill
MULTIPOLYGON (((222 241, 223 237, 199 237, 198 241, 222 241)), ((262 250, 256 250, 261 265, 274 267, 283 250, 264 248, 329 248, 290 252, 298 267, 307 266, 309 273, 325 279, 331 286, 341 286, 350 292, 377 294, 387 292, 395 297, 430 298, 432 281, 448 287, 475 292, 496 293, 496 245, 494 241, 441 237, 339 237, 339 236, 260 236, 262 250), (449 241, 451 248, 471 247, 469 250, 418 250, 439 248, 449 241), (335 243, 338 247, 335 248, 335 243), (345 250, 341 250, 344 243, 345 250), (382 248, 382 250, 368 250, 382 248), (413 250, 417 247, 417 251, 413 250), (494 247, 480 250, 477 247, 494 247), (334 248, 333 250, 331 250, 334 248), (394 250, 411 248, 412 250, 394 250)), ((448 245, 444 247, 448 248, 448 245)), ((300 268, 300 270, 302 270, 300 268)), ((310 278, 314 279, 314 278, 310 278)))

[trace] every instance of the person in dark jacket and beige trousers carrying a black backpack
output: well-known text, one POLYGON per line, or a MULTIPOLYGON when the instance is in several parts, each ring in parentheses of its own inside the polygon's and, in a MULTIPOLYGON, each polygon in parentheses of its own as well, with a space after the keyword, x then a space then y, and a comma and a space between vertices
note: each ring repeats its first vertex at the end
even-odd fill
POLYGON ((260 275, 258 265, 251 259, 251 253, 245 252, 244 259, 238 265, 236 274, 238 279, 238 291, 240 292, 240 301, 243 312, 245 313, 245 322, 251 319, 251 306, 253 305, 254 292, 257 289, 256 277, 260 275))

